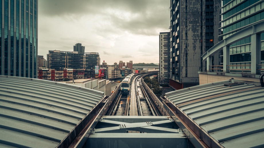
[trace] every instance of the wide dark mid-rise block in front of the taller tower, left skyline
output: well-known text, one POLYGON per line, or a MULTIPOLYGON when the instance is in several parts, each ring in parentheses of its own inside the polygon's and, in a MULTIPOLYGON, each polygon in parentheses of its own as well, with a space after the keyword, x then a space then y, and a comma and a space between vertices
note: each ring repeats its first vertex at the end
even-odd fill
POLYGON ((83 69, 84 54, 79 54, 76 51, 49 50, 47 54, 47 66, 55 70, 59 70, 60 68, 83 69))

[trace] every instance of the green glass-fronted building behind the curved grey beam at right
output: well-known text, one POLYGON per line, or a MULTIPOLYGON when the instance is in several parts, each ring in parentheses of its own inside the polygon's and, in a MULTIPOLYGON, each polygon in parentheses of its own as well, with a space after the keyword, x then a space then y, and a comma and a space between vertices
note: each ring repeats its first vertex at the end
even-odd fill
MULTIPOLYGON (((225 39, 246 27, 263 21, 264 1, 223 0, 221 15, 222 21, 220 22, 222 23, 222 27, 220 29, 223 31, 221 36, 225 39)), ((223 57, 221 61, 223 61, 223 57)), ((261 33, 261 64, 264 64, 264 33, 261 33)), ((251 37, 230 45, 230 65, 251 65, 251 37)), ((233 66, 230 68, 238 69, 241 67, 233 66)), ((243 68, 250 69, 250 66, 243 68)), ((236 71, 230 70, 230 72, 236 71)))

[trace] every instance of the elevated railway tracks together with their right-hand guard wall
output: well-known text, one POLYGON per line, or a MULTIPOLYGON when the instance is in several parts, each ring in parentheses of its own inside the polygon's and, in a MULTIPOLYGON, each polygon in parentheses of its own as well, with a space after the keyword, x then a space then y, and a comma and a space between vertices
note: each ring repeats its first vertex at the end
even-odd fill
POLYGON ((111 96, 110 107, 105 115, 112 116, 161 116, 168 115, 160 100, 143 81, 147 75, 137 75, 129 95, 121 94, 120 87, 111 96))

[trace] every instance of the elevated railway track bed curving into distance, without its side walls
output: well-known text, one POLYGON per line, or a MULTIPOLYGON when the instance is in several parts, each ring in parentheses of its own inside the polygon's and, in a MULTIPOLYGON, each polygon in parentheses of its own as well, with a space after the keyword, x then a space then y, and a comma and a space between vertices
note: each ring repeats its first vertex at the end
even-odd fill
POLYGON ((118 93, 106 115, 112 116, 160 116, 155 103, 147 94, 141 82, 143 75, 136 76, 131 84, 130 93, 118 93))

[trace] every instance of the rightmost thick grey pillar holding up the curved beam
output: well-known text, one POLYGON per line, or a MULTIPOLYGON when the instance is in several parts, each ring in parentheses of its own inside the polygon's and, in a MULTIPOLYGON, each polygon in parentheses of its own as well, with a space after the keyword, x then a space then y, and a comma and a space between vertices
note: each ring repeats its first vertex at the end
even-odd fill
POLYGON ((260 75, 261 69, 261 33, 251 35, 251 74, 260 75))

